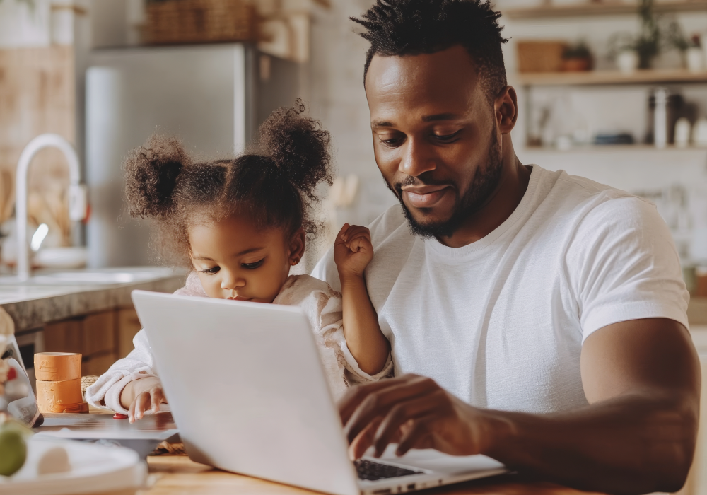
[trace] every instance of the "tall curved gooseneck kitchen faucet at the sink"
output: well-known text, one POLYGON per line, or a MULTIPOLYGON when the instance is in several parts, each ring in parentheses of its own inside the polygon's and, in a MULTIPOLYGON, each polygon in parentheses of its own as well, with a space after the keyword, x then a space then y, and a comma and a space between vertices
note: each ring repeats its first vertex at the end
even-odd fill
POLYGON ((59 134, 40 134, 25 146, 17 162, 15 178, 16 226, 17 226, 17 277, 20 281, 30 278, 30 252, 27 243, 27 173, 32 158, 42 148, 59 148, 69 163, 69 219, 80 221, 86 218, 86 187, 81 185, 81 168, 74 146, 59 134))

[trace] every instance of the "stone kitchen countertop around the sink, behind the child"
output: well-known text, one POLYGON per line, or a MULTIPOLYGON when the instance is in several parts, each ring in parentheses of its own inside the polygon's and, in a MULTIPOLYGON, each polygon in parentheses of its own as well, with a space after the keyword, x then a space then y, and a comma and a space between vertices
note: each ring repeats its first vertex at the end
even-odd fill
POLYGON ((0 307, 12 318, 15 332, 95 311, 132 306, 135 289, 174 292, 186 272, 164 267, 38 272, 21 283, 0 276, 0 307))

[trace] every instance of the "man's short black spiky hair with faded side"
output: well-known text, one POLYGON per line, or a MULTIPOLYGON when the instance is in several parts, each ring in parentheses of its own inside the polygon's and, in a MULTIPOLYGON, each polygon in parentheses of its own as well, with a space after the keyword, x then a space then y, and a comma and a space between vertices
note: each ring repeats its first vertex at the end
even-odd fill
POLYGON ((383 57, 419 55, 462 45, 478 65, 479 78, 493 100, 506 86, 506 66, 501 45, 506 40, 498 25, 501 13, 489 0, 377 0, 361 19, 361 37, 370 42, 363 68, 375 54, 383 57))

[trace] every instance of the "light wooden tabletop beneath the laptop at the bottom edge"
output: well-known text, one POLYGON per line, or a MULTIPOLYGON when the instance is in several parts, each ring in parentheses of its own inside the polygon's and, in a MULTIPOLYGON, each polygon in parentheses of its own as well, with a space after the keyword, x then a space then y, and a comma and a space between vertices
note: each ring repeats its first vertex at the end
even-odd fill
MULTIPOLYGON (((148 457, 151 488, 141 495, 314 495, 317 492, 266 482, 262 479, 216 470, 189 460, 186 455, 148 457)), ((424 495, 580 495, 585 491, 556 484, 503 475, 427 489, 424 495)))

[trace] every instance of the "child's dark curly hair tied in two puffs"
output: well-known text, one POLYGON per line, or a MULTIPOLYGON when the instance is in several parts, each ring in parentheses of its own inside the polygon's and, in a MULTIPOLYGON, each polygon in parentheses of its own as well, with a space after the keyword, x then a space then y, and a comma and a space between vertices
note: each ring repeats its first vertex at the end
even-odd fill
POLYGON ((317 186, 332 185, 330 136, 304 110, 297 100, 272 112, 259 129, 259 154, 235 160, 193 163, 180 141, 158 135, 133 151, 124 165, 129 213, 153 219, 163 260, 190 265, 189 226, 233 214, 258 228, 316 233, 317 186))

